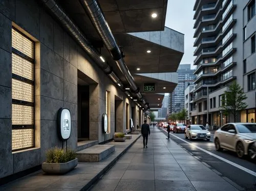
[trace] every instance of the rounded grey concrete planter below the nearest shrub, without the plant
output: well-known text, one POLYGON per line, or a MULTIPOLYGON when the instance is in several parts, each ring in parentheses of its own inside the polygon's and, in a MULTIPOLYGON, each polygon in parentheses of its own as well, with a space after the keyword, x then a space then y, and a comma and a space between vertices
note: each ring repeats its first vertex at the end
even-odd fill
POLYGON ((78 164, 78 159, 75 158, 65 163, 42 163, 42 171, 48 174, 65 174, 73 170, 78 164))

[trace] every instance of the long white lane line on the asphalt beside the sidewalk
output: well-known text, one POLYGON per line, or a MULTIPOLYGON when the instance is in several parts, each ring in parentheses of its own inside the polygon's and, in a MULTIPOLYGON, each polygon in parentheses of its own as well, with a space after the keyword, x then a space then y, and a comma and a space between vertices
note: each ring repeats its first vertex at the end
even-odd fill
MULTIPOLYGON (((164 130, 164 129, 163 129, 163 130, 164 130)), ((164 130, 164 131, 167 132, 166 130, 164 130)), ((178 136, 176 136, 176 135, 174 135, 174 134, 172 134, 172 133, 170 133, 170 135, 172 135, 172 136, 174 136, 174 137, 176 137, 176 138, 182 140, 183 142, 186 142, 187 144, 189 144, 189 145, 191 145, 191 146, 193 146, 193 147, 195 147, 195 148, 197 148, 197 149, 199 149, 199 150, 201 150, 201 151, 203 151, 203 152, 205 152, 205 153, 207 153, 207 154, 209 154, 209 155, 211 155, 211 156, 214 156, 214 157, 216 157, 216 158, 218 158, 218 159, 220 159, 220 160, 222 160, 222 161, 224 161, 224 162, 227 162, 228 164, 231 164, 231 165, 235 166, 235 167, 237 167, 238 169, 241 169, 241 170, 245 171, 246 173, 249 173, 249 174, 251 174, 251 175, 253 175, 253 176, 256 176, 256 172, 253 172, 253 171, 251 171, 251 170, 249 170, 249 169, 246 169, 244 166, 241 166, 241 165, 239 165, 239 164, 236 164, 236 163, 234 163, 234 162, 231 162, 231 161, 229 161, 229 160, 227 160, 227 159, 225 159, 225 158, 223 158, 223 157, 221 157, 221 156, 218 156, 218 155, 216 155, 216 154, 214 154, 214 153, 211 153, 211 152, 209 152, 209 151, 207 151, 207 150, 205 150, 205 149, 202 149, 201 147, 198 147, 198 146, 192 144, 191 142, 188 142, 188 141, 186 141, 186 140, 183 140, 182 138, 180 138, 180 137, 178 137, 178 136)))

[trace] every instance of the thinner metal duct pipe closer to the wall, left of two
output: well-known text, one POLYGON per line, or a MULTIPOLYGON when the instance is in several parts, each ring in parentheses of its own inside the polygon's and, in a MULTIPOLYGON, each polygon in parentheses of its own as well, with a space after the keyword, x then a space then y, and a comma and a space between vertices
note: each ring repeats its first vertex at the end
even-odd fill
POLYGON ((59 20, 62 27, 65 28, 68 33, 74 37, 74 39, 82 46, 82 49, 98 64, 103 71, 110 76, 110 78, 123 87, 121 80, 111 70, 108 63, 103 62, 100 59, 100 53, 94 49, 90 41, 82 34, 75 23, 68 17, 64 10, 54 0, 41 0, 43 5, 49 9, 49 11, 59 20))

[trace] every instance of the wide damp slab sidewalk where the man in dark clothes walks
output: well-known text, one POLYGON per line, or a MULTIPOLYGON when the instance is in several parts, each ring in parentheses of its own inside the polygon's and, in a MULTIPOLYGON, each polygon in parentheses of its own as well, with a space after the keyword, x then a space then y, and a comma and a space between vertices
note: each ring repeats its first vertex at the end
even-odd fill
POLYGON ((188 154, 158 128, 151 128, 148 148, 142 137, 91 187, 93 190, 238 190, 188 154))

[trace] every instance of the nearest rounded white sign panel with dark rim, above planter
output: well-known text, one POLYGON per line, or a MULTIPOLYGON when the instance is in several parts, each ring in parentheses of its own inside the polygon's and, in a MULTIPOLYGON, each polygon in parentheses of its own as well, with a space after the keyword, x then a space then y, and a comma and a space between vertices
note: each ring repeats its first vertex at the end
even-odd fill
POLYGON ((71 134, 71 114, 69 109, 60 108, 58 111, 58 135, 61 140, 67 140, 71 134))

